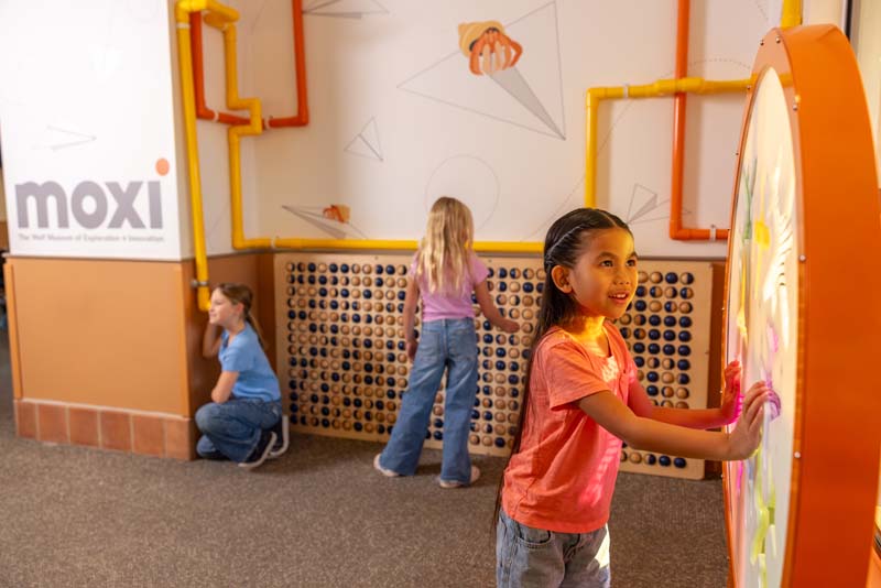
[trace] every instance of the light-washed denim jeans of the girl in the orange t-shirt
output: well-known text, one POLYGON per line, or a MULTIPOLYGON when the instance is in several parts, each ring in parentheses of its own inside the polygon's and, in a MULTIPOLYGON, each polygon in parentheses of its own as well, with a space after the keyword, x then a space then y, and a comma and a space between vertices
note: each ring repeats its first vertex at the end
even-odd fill
POLYGON ((497 588, 609 588, 609 527, 557 533, 518 523, 503 510, 496 525, 497 588))

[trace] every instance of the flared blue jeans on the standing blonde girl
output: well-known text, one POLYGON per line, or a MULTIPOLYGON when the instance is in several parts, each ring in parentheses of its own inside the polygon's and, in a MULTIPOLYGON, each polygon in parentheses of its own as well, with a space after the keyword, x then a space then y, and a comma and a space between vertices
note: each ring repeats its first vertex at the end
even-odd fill
POLYGON ((379 459, 383 468, 401 476, 416 472, 432 405, 447 368, 440 479, 470 483, 468 432, 477 398, 477 334, 471 318, 444 318, 422 325, 401 412, 379 459))

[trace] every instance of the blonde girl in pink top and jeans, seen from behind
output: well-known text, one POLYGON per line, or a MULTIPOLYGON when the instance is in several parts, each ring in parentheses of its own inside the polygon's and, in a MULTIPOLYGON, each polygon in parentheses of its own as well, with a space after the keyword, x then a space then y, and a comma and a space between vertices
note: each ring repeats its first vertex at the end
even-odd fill
POLYGON ((442 488, 474 483, 480 470, 468 456, 468 431, 477 395, 477 334, 471 293, 483 316, 505 333, 519 325, 504 318, 487 287, 487 266, 471 249, 471 211, 459 200, 438 198, 407 275, 404 298, 406 352, 413 361, 401 412, 389 444, 373 467, 389 477, 413 476, 428 431, 428 418, 444 372, 444 457, 442 488), (413 326, 422 298, 422 336, 413 326))

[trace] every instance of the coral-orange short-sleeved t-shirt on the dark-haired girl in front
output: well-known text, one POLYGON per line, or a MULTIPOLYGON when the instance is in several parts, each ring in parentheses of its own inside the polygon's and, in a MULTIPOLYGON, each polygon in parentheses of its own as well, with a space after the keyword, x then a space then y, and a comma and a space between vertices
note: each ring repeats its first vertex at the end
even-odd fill
POLYGON ((588 351, 553 327, 539 341, 520 451, 504 470, 502 507, 527 526, 589 533, 609 520, 621 439, 600 427, 577 401, 611 391, 628 403, 637 366, 608 320, 610 357, 588 351))

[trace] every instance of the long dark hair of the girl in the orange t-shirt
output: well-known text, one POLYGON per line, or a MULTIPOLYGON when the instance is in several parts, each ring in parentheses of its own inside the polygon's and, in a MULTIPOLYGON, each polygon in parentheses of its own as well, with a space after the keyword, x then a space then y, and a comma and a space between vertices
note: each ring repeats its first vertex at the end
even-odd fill
MULTIPOLYGON (((536 317, 535 335, 532 338, 532 345, 529 350, 529 360, 526 361, 526 377, 523 380, 523 398, 520 406, 520 417, 516 423, 516 432, 514 433, 514 444, 511 447, 511 455, 508 457, 508 462, 511 461, 518 451, 520 451, 520 442, 523 437, 523 424, 526 421, 526 411, 532 410, 530 403, 530 384, 532 382, 532 367, 535 359, 535 349, 544 335, 556 325, 564 325, 576 317, 578 306, 575 300, 559 290, 557 290, 551 277, 551 270, 555 265, 563 265, 564 268, 573 269, 578 262, 578 258, 587 248, 590 242, 590 233, 595 230, 602 229, 624 229, 630 232, 630 227, 627 222, 606 210, 599 208, 576 208, 559 217, 551 228, 547 229, 547 236, 544 239, 544 255, 542 266, 544 268, 544 286, 542 290, 541 306, 539 308, 539 316, 536 317)), ((631 233, 632 235, 632 233, 631 233)), ((502 469, 502 477, 499 480, 499 487, 496 491, 496 512, 492 519, 492 529, 499 520, 499 511, 502 505, 502 488, 504 487, 504 469, 502 469)))

